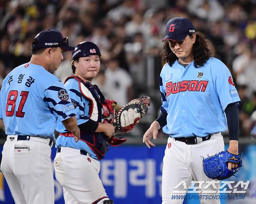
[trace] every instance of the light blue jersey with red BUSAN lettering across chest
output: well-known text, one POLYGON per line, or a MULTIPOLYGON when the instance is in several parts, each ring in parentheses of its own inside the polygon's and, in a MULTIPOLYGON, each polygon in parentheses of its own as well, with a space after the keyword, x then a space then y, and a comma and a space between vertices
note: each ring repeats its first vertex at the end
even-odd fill
POLYGON ((202 67, 194 61, 184 68, 178 61, 163 66, 160 91, 167 113, 163 132, 171 137, 205 137, 227 130, 226 106, 240 101, 230 71, 211 57, 202 67))

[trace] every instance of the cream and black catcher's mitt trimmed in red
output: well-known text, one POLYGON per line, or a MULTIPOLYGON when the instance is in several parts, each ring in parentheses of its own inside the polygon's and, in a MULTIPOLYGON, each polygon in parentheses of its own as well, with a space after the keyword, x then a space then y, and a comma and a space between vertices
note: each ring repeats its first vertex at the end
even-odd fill
POLYGON ((139 119, 146 114, 149 100, 150 97, 142 96, 140 99, 133 99, 121 107, 114 121, 116 132, 126 133, 132 130, 139 119))

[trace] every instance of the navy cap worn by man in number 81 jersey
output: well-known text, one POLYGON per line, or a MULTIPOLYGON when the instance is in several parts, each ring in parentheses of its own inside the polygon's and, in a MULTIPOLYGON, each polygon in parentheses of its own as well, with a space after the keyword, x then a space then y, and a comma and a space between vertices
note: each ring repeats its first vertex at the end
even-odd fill
POLYGON ((32 41, 32 48, 60 47, 64 51, 74 50, 68 45, 68 37, 63 38, 60 31, 44 30, 38 33, 32 41))

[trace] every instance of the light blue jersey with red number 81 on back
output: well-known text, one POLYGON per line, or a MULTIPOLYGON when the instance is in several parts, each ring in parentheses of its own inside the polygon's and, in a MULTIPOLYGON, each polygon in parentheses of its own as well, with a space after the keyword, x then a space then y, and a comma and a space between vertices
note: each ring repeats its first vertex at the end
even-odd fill
POLYGON ((55 141, 57 118, 75 116, 61 81, 44 67, 23 64, 4 79, 0 92, 0 118, 7 135, 49 137, 55 141))

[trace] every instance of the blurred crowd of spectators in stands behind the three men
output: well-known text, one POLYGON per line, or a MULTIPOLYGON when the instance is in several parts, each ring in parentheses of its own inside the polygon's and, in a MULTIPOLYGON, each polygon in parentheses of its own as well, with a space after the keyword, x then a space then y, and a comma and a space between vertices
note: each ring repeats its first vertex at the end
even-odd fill
MULTIPOLYGON (((72 46, 98 45, 102 70, 95 83, 106 98, 119 106, 143 94, 152 98, 150 114, 133 130, 142 136, 159 114, 161 40, 177 16, 212 41, 242 100, 240 136, 256 138, 256 0, 0 0, 0 88, 14 67, 30 61, 35 35, 57 29, 72 46)), ((71 55, 64 54, 54 73, 61 81, 72 74, 71 55)))

